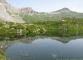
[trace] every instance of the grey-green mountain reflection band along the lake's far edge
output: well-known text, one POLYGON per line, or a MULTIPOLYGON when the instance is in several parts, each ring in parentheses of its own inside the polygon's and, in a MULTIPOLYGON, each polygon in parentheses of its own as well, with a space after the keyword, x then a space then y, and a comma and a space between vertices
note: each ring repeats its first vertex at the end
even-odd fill
MULTIPOLYGON (((6 38, 9 38, 9 37, 6 37, 6 38)), ((15 37, 14 37, 15 38, 15 37)), ((13 39, 14 39, 13 38, 13 39)), ((68 43, 69 41, 71 40, 75 40, 75 39, 81 39, 82 36, 74 36, 74 37, 63 37, 63 38, 60 38, 60 37, 46 37, 46 36, 36 36, 36 37, 28 37, 28 38, 22 38, 22 39, 15 39, 15 40, 6 40, 6 41, 0 41, 0 49, 2 50, 5 50, 7 49, 8 47, 10 47, 11 45, 13 44, 16 44, 16 43, 26 43, 26 44, 31 44, 34 40, 38 39, 38 38, 41 38, 41 39, 44 39, 44 38, 50 38, 52 40, 57 40, 57 41, 60 41, 62 43, 68 43)))

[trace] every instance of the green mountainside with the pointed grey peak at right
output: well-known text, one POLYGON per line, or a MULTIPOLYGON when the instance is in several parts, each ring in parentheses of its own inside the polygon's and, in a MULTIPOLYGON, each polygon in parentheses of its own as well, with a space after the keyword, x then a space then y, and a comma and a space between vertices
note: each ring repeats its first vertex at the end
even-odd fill
POLYGON ((30 12, 23 14, 21 12, 20 16, 25 22, 37 22, 37 21, 55 21, 55 20, 61 20, 63 18, 83 18, 83 13, 74 12, 68 8, 62 8, 60 10, 48 13, 35 11, 35 13, 30 12))

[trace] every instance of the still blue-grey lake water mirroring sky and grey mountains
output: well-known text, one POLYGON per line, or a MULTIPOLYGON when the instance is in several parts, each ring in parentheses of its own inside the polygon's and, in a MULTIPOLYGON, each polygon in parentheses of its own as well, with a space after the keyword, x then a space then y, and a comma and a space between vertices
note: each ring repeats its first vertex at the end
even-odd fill
POLYGON ((7 41, 5 57, 10 60, 82 59, 83 39, 29 37, 7 41))

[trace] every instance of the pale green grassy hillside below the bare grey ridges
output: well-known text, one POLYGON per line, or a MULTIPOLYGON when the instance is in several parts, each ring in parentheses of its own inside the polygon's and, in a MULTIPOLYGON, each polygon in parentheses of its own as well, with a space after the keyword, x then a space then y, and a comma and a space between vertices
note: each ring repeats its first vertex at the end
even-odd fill
POLYGON ((83 13, 77 13, 77 12, 63 12, 60 14, 39 13, 39 15, 32 15, 32 16, 20 14, 20 16, 25 22, 38 22, 38 21, 56 21, 67 17, 83 18, 83 13))

